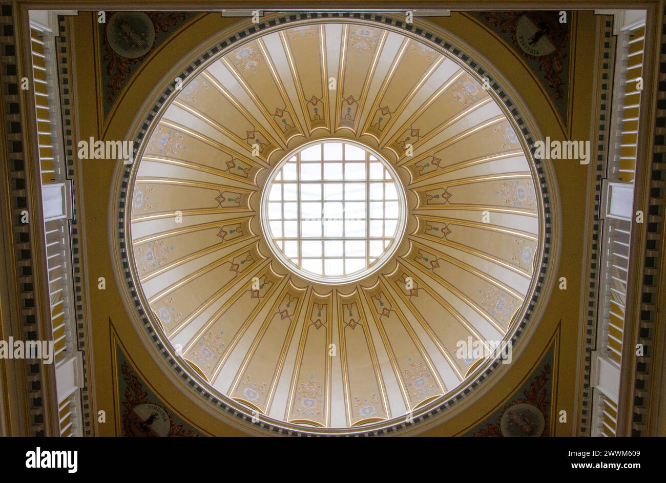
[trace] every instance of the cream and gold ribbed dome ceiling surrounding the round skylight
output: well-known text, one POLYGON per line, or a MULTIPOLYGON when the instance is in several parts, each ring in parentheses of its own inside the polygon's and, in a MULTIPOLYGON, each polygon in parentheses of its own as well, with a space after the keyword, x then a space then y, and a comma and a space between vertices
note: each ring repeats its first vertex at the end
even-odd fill
POLYGON ((460 341, 515 332, 542 229, 524 141, 480 80, 351 20, 262 33, 188 77, 135 163, 127 237, 153 325, 208 391, 308 432, 404 419, 483 369, 460 341), (388 262, 327 285, 274 256, 260 207, 278 163, 332 138, 386 159, 407 207, 388 262))

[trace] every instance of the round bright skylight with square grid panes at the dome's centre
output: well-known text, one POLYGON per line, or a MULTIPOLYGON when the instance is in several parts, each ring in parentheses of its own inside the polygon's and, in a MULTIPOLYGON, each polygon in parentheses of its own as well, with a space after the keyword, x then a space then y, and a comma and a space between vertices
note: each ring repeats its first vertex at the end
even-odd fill
POLYGON ((406 197, 394 169, 359 143, 302 145, 264 186, 266 241, 292 272, 314 282, 354 282, 394 254, 406 225, 406 197))

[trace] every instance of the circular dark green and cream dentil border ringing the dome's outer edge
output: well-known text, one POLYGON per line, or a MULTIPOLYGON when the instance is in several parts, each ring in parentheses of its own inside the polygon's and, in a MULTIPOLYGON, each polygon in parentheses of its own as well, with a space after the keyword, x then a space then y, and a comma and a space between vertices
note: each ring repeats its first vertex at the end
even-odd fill
MULTIPOLYGON (((531 132, 529 129, 529 125, 525 122, 525 115, 521 112, 521 108, 519 108, 519 105, 511 99, 511 97, 507 94, 505 89, 502 86, 502 83, 499 79, 494 79, 492 73, 486 71, 486 69, 483 67, 483 65, 476 60, 472 55, 466 53, 462 48, 458 47, 458 45, 455 45, 452 41, 449 39, 444 39, 444 35, 440 37, 437 33, 432 33, 423 27, 416 26, 414 24, 408 24, 405 23, 404 21, 400 19, 396 19, 394 17, 389 17, 386 15, 378 15, 375 13, 360 13, 360 12, 344 12, 344 13, 300 13, 300 14, 295 14, 295 15, 284 15, 281 17, 276 17, 272 18, 270 20, 262 21, 261 23, 258 24, 253 24, 250 27, 247 27, 246 29, 243 29, 241 31, 238 31, 237 33, 234 33, 234 35, 231 35, 230 37, 224 39, 223 41, 220 41, 219 43, 216 43, 213 47, 210 47, 207 51, 202 53, 198 58, 196 58, 194 61, 190 63, 180 74, 177 74, 177 77, 180 77, 184 82, 187 81, 188 77, 192 75, 204 63, 208 63, 208 61, 212 61, 213 59, 217 59, 230 49, 233 49, 237 47, 238 44, 242 43, 243 39, 246 37, 259 33, 264 30, 268 29, 280 29, 280 27, 284 26, 287 27, 290 23, 296 22, 296 21, 308 21, 308 20, 313 20, 313 21, 322 21, 326 19, 350 19, 350 20, 360 20, 360 21, 367 21, 370 23, 376 23, 377 27, 382 27, 384 25, 394 27, 395 29, 402 30, 404 33, 407 33, 411 37, 416 37, 417 39, 420 39, 421 41, 425 41, 426 44, 434 45, 438 47, 440 51, 444 51, 449 57, 453 57, 460 63, 461 65, 465 65, 468 69, 471 71, 474 71, 474 73, 478 74, 480 77, 488 77, 489 83, 500 99, 500 101, 504 104, 505 108, 513 118, 513 121, 515 122, 515 125, 519 128, 521 134, 523 135, 523 138, 527 142, 527 145, 529 146, 532 155, 535 152, 535 147, 534 147, 534 141, 536 140, 535 135, 531 132)), ((152 109, 149 111, 149 115, 145 118, 145 121, 141 125, 141 128, 139 129, 139 132, 137 133, 135 140, 134 140, 134 150, 135 150, 135 155, 137 154, 139 147, 149 130, 149 127, 151 123, 157 118, 159 118, 159 113, 162 109, 162 107, 167 103, 167 101, 172 97, 174 90, 175 90, 176 83, 172 82, 166 89, 160 93, 158 96, 159 98, 155 101, 153 104, 152 109)), ((549 270, 549 267, 551 266, 551 250, 552 250, 552 231, 553 231, 553 221, 551 218, 551 211, 553 210, 553 201, 551 197, 553 196, 553 189, 550 187, 550 182, 548 177, 545 175, 545 168, 543 166, 543 161, 541 159, 536 159, 534 158, 534 163, 535 163, 535 170, 536 170, 536 175, 537 175, 537 181, 539 185, 539 189, 541 190, 541 199, 543 200, 543 214, 544 214, 544 226, 545 230, 543 233, 544 236, 544 244, 543 244, 543 256, 541 258, 541 263, 539 264, 539 274, 538 278, 536 280, 535 284, 535 290, 533 294, 531 294, 531 298, 529 299, 527 310, 525 311, 525 314, 523 316, 523 320, 518 324, 513 336, 511 337, 511 342, 515 344, 517 340, 522 336, 523 332, 525 331, 525 328, 527 324, 530 322, 532 315, 533 315, 533 310, 539 301, 539 298, 541 297, 542 293, 546 291, 546 286, 544 285, 545 283, 545 278, 547 276, 547 272, 549 270)), ((236 408, 230 406, 227 404, 226 401, 220 400, 220 398, 217 398, 216 396, 210 394, 205 388, 200 386, 196 380, 194 380, 190 374, 188 374, 188 371, 180 364, 178 361, 174 359, 172 356, 170 350, 168 350, 164 344, 161 342, 161 338, 159 337, 158 334, 155 333, 155 328, 153 326, 153 322, 151 322, 149 316, 146 313, 146 310, 143 307, 143 304, 141 303, 141 300, 139 299, 139 295, 137 294, 137 287, 135 286, 135 281, 132 277, 131 274, 131 269, 130 269, 130 264, 132 263, 129 259, 129 252, 127 250, 127 241, 125 239, 125 209, 126 209, 126 203, 127 202, 127 194, 128 191, 131 189, 129 183, 130 183, 130 176, 131 176, 131 167, 122 167, 122 172, 121 172, 121 181, 120 181, 120 186, 119 186, 119 192, 117 193, 117 200, 118 200, 118 212, 117 212, 117 235, 118 235, 118 246, 119 246, 119 253, 121 254, 121 266, 123 268, 121 272, 121 280, 123 280, 123 283, 127 287, 127 292, 131 296, 131 304, 133 304, 135 310, 137 310, 137 313, 139 315, 139 318, 141 320, 141 324, 143 325, 143 329, 149 334, 149 338, 151 338, 153 344, 155 344, 155 347, 163 356, 166 361, 168 361, 168 365, 174 372, 178 375, 178 377, 182 378, 183 382, 187 385, 190 386, 190 389, 197 394, 199 394, 202 398, 210 402, 213 406, 216 406, 219 408, 222 412, 226 412, 231 416, 234 416, 238 420, 238 422, 244 423, 244 424, 250 424, 251 426, 254 426, 255 428, 260 428, 262 430, 265 430, 266 432, 270 432, 273 434, 282 434, 282 435, 288 435, 288 436, 312 436, 313 434, 322 434, 320 432, 313 432, 313 431, 308 431, 306 428, 304 430, 293 430, 292 428, 284 428, 282 426, 279 426, 278 424, 273 424, 272 422, 268 421, 262 421, 258 420, 256 422, 252 422, 252 416, 250 414, 247 414, 245 412, 240 412, 236 408)), ((129 201, 130 206, 131 206, 131 201, 129 201)), ((398 422, 394 422, 391 426, 386 426, 385 428, 380 428, 377 430, 371 429, 364 431, 362 428, 354 428, 353 430, 353 435, 354 436, 381 436, 384 434, 396 434, 400 433, 402 430, 406 430, 409 428, 412 428, 413 426, 418 424, 422 424, 424 422, 428 422, 428 420, 431 420, 432 418, 435 418, 438 416, 440 413, 444 412, 445 410, 448 410, 449 408, 456 406, 456 404, 459 404, 462 402, 466 396, 468 396, 473 390, 476 390, 486 378, 494 372, 498 366, 500 366, 500 361, 495 360, 490 364, 490 366, 482 372, 477 378, 471 383, 466 386, 463 390, 458 392, 457 394, 453 396, 443 396, 442 398, 444 399, 441 404, 436 406, 435 408, 432 408, 431 410, 428 410, 428 412, 424 414, 418 414, 414 416, 413 422, 406 422, 404 420, 400 420, 398 422)))

